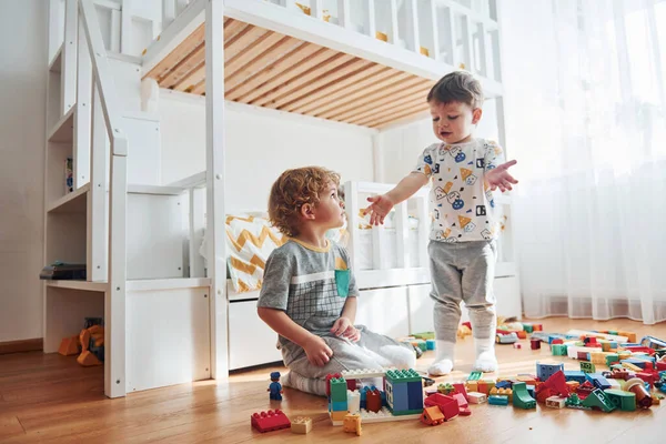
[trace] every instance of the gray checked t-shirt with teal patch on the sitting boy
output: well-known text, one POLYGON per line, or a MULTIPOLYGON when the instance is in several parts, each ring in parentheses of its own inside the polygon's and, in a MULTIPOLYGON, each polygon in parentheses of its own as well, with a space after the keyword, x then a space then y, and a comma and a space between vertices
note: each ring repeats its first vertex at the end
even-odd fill
MULTIPOLYGON (((347 252, 334 242, 317 249, 290 240, 269 256, 256 306, 282 310, 317 336, 332 335, 346 297, 359 295, 349 264, 347 252)), ((303 351, 285 337, 279 342, 287 356, 303 351)))

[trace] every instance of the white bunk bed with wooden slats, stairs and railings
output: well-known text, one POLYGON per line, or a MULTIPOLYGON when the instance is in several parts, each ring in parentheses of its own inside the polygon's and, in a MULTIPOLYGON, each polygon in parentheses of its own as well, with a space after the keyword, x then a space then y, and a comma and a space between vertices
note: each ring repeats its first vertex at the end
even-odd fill
MULTIPOLYGON (((494 0, 164 0, 161 27, 142 18, 151 31, 135 36, 132 2, 120 4, 51 0, 49 32, 44 261, 84 261, 88 280, 46 284, 44 351, 83 316, 103 315, 110 397, 280 360, 255 315, 256 290, 228 280, 225 102, 380 134, 427 115, 434 81, 465 68, 501 114, 494 0), (148 112, 160 89, 206 105, 206 171, 168 185, 155 167, 160 122, 148 112), (72 192, 53 191, 68 157, 72 192), (252 350, 242 344, 250 336, 252 350)), ((363 293, 357 322, 402 335, 432 329, 430 214, 422 190, 393 224, 367 230, 365 196, 390 186, 344 184, 349 248, 363 293)), ((511 279, 503 292, 519 315, 514 262, 503 260, 497 276, 511 279)))

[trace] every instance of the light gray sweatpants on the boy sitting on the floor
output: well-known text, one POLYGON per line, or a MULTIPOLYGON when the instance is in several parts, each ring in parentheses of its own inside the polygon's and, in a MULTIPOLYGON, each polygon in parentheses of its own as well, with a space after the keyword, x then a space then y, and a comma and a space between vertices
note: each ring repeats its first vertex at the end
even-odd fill
POLYGON ((302 380, 297 385, 292 382, 292 385, 304 392, 325 395, 325 379, 330 373, 380 367, 414 369, 416 365, 416 355, 412 345, 371 332, 364 325, 355 325, 355 327, 361 332, 359 342, 335 336, 322 337, 333 351, 333 356, 321 367, 310 364, 305 351, 291 362, 287 361, 286 351, 283 351, 284 365, 292 373, 297 374, 292 375, 292 379, 302 380))

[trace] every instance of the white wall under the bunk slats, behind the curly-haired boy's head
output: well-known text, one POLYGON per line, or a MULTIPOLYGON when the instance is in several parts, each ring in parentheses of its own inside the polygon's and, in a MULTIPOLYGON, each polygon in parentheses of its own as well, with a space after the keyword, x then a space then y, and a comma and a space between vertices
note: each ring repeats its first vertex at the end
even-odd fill
MULTIPOLYGON (((269 191, 289 168, 321 165, 342 181, 372 181, 372 135, 269 112, 228 107, 226 211, 266 209, 269 191), (233 108, 233 109, 232 109, 233 108)), ((160 91, 162 183, 205 170, 205 100, 160 91)))

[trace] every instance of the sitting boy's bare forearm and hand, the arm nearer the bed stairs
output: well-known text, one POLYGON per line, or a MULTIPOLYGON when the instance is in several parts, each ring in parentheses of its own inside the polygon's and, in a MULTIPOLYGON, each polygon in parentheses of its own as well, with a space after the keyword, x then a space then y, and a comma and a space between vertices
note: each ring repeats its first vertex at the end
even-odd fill
POLYGON ((256 312, 275 333, 302 346, 312 365, 324 366, 333 356, 333 351, 324 340, 296 324, 282 310, 260 306, 256 312))

